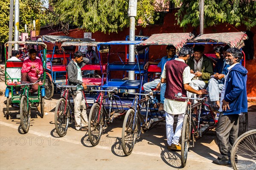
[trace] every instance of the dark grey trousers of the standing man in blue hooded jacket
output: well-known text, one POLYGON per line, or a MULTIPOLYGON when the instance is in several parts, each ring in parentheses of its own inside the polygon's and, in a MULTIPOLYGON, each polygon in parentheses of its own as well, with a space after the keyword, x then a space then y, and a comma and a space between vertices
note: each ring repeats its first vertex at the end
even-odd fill
POLYGON ((216 136, 218 147, 225 159, 230 159, 232 146, 238 138, 239 115, 223 115, 220 113, 218 125, 216 128, 216 136))

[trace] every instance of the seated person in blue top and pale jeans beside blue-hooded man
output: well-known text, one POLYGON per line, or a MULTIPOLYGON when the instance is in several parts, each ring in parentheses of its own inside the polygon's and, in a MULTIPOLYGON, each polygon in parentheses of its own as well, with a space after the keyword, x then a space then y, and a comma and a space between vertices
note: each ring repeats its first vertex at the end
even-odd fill
POLYGON ((224 86, 224 77, 227 75, 227 68, 230 66, 226 63, 225 57, 227 54, 227 49, 230 48, 229 45, 220 48, 220 59, 215 65, 214 73, 212 78, 209 79, 207 91, 209 91, 209 101, 213 105, 218 105, 220 107, 219 93, 221 93, 224 86))

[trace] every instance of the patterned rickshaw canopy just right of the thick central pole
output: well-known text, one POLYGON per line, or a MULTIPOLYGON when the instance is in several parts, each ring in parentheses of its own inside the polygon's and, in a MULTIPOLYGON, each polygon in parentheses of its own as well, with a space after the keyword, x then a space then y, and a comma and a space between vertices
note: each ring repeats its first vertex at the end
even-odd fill
POLYGON ((153 34, 138 45, 174 45, 178 51, 183 45, 193 38, 191 33, 163 33, 153 34))

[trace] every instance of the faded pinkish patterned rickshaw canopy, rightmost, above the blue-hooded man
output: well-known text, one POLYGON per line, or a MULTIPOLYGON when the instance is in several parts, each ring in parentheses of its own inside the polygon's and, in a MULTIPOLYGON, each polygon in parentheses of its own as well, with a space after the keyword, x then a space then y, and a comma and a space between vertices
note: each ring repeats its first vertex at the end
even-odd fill
POLYGON ((247 39, 248 37, 244 32, 224 32, 201 34, 189 40, 187 44, 228 44, 230 47, 241 48, 244 46, 244 40, 247 39))

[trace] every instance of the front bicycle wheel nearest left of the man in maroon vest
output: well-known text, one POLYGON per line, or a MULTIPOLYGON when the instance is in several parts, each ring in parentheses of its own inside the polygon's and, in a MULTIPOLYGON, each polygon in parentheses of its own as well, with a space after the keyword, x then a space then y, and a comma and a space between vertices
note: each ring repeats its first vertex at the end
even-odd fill
POLYGON ((134 148, 137 133, 138 133, 138 119, 135 117, 133 109, 129 109, 125 114, 125 119, 122 127, 122 149, 125 155, 129 156, 134 148))

